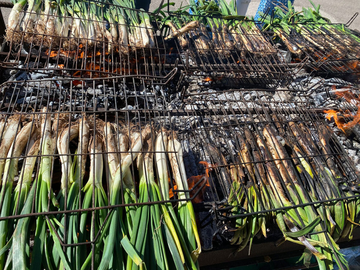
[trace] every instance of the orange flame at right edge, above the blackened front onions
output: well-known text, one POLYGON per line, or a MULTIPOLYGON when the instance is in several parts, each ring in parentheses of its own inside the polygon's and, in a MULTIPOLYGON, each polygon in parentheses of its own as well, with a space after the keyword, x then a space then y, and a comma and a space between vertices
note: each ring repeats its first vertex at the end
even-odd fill
MULTIPOLYGON (((332 87, 336 89, 336 86, 332 87)), ((360 98, 355 96, 351 91, 337 91, 335 93, 337 95, 337 99, 344 98, 348 103, 356 105, 357 111, 356 114, 353 115, 349 111, 335 111, 335 110, 325 110, 324 113, 327 114, 325 116, 329 121, 331 118, 334 119, 337 127, 341 129, 344 133, 346 133, 347 129, 354 127, 357 123, 360 122, 360 98), (353 118, 350 122, 346 122, 345 118, 353 118)))

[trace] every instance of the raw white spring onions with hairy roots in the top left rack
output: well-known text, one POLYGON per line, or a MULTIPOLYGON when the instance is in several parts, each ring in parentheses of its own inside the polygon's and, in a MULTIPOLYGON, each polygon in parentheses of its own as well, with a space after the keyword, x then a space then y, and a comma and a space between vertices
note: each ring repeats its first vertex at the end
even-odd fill
POLYGON ((21 0, 9 15, 6 39, 14 45, 31 42, 53 50, 76 50, 80 44, 89 49, 107 44, 109 53, 153 48, 156 40, 149 14, 132 9, 134 0, 21 0))

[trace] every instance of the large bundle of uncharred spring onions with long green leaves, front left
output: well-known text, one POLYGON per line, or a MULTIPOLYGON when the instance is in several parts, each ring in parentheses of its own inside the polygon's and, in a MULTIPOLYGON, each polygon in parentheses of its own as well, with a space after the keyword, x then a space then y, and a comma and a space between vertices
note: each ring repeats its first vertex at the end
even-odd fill
POLYGON ((1 217, 27 215, 0 221, 0 269, 198 269, 182 149, 165 130, 126 129, 85 114, 73 120, 47 108, 39 119, 0 124, 0 148, 8 152, 1 217), (176 203, 171 177, 182 190, 176 203), (40 215, 28 215, 33 211, 40 215))

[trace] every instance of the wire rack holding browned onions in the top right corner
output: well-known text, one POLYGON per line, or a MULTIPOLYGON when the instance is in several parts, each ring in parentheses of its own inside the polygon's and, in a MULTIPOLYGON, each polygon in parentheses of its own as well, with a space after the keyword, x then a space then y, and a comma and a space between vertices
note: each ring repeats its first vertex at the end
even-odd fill
MULTIPOLYGON (((287 8, 283 6, 285 12, 287 8)), ((284 42, 292 53, 292 63, 308 59, 305 66, 310 71, 323 75, 347 77, 359 75, 359 32, 349 28, 357 17, 355 13, 346 24, 304 22, 287 22, 286 26, 274 22, 271 18, 271 28, 274 35, 284 42)), ((265 15, 266 16, 266 15, 265 15)))

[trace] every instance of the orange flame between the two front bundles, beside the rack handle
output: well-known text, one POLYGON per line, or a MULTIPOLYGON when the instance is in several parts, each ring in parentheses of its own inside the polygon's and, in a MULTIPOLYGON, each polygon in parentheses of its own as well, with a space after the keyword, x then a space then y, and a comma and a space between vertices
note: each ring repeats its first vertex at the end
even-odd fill
MULTIPOLYGON (((196 176, 191 176, 187 181, 188 181, 188 187, 189 189, 192 189, 194 187, 195 184, 198 183, 198 181, 200 181, 203 177, 206 178, 206 184, 203 186, 203 188, 205 188, 205 186, 210 186, 209 184, 209 177, 210 177, 210 172, 212 171, 212 166, 210 163, 206 162, 206 161, 200 161, 199 164, 204 166, 205 169, 205 173, 202 175, 196 175, 196 176)), ((169 178, 169 183, 170 183, 170 178, 169 178)), ((193 197, 193 195, 195 195, 195 193, 198 192, 198 190, 200 189, 200 187, 202 186, 202 183, 199 183, 196 188, 194 188, 194 190, 192 190, 190 192, 190 197, 193 197)), ((177 186, 174 185, 174 189, 176 189, 177 186)), ((170 198, 174 197, 174 193, 172 192, 172 189, 170 188, 169 190, 169 195, 170 198)), ((203 191, 200 190, 198 195, 193 199, 194 203, 201 203, 203 201, 203 191)))

